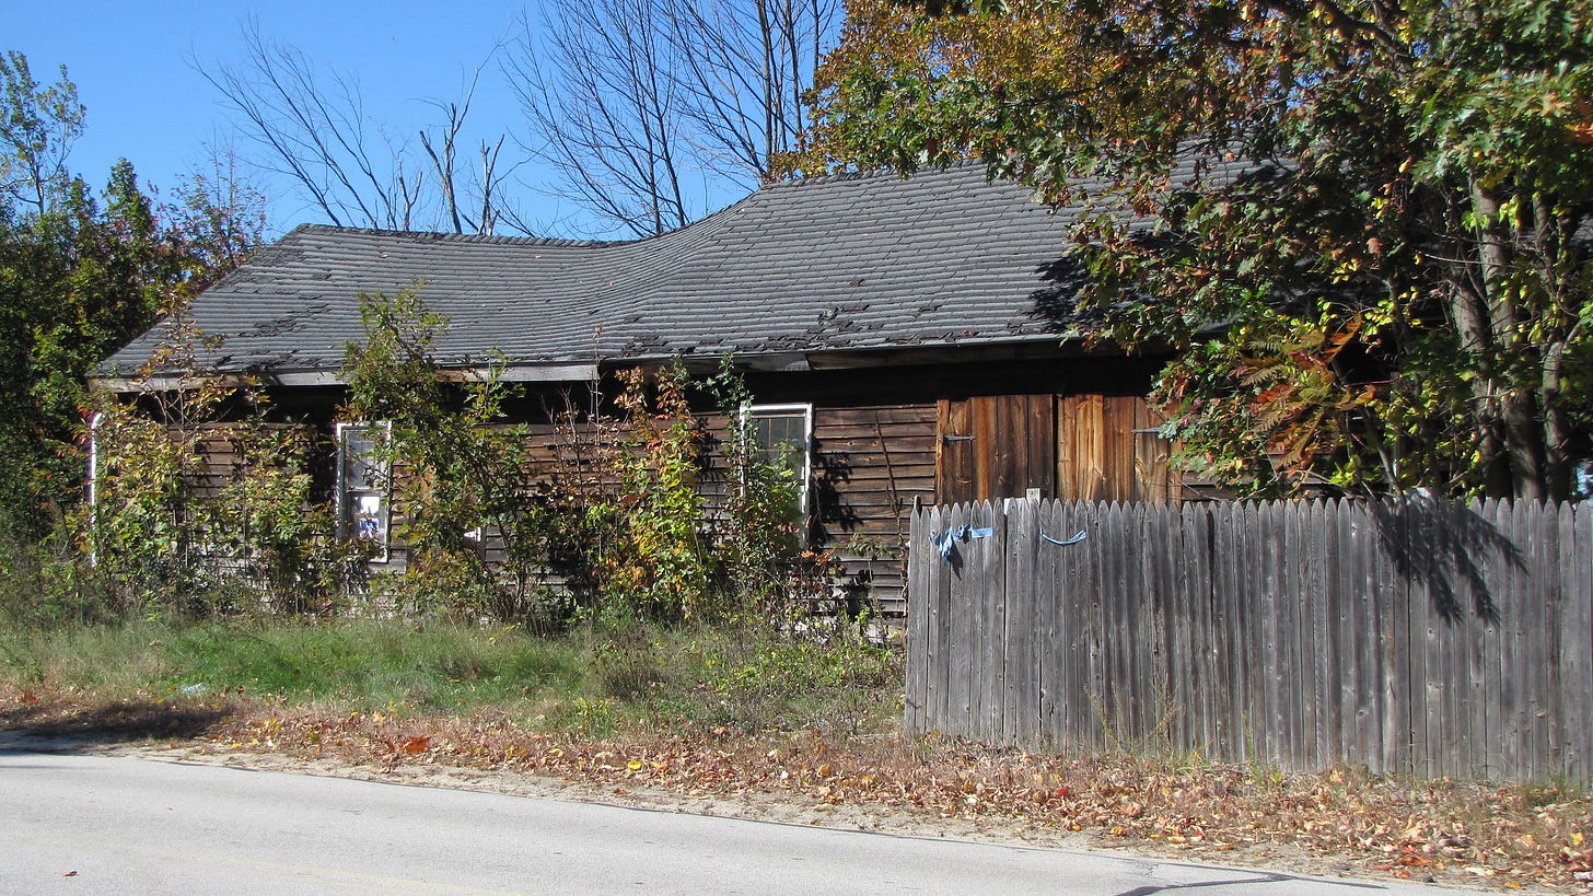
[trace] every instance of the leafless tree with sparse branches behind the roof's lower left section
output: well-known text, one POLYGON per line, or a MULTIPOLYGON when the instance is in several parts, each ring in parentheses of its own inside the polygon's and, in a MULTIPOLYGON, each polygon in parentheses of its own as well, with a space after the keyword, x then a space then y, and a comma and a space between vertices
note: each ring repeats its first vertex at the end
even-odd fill
POLYGON ((264 37, 256 22, 245 24, 242 37, 242 61, 198 69, 258 147, 253 161, 287 177, 333 225, 492 233, 500 222, 521 223, 499 199, 515 167, 500 167, 502 137, 481 142, 479 171, 460 167, 479 67, 460 100, 429 100, 446 121, 435 132, 421 129, 427 158, 419 159, 408 139, 395 139, 366 113, 357 77, 264 37))

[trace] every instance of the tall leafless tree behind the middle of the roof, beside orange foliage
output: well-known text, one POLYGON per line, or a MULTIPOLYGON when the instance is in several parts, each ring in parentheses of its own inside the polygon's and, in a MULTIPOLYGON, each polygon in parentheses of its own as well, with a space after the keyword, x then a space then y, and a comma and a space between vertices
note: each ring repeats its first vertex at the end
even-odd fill
POLYGON ((793 148, 836 0, 594 0, 523 16, 505 73, 554 195, 663 233, 793 148))

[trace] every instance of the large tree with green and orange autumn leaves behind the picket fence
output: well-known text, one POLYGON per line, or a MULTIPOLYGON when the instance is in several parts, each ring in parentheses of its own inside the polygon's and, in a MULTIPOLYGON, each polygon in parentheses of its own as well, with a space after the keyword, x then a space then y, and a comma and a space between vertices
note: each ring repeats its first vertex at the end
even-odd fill
POLYGON ((1574 491, 1593 5, 967 6, 854 3, 793 166, 981 156, 1083 206, 1082 325, 1179 349, 1168 430, 1223 480, 1574 491))

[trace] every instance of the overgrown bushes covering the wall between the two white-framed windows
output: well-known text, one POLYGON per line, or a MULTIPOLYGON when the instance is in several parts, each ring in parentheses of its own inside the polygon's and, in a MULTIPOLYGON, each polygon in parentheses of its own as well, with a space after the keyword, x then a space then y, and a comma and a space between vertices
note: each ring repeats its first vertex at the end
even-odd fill
POLYGON ((500 364, 460 376, 436 362, 448 320, 414 290, 365 298, 362 317, 346 413, 390 426, 379 453, 406 518, 395 534, 408 569, 389 584, 400 606, 538 628, 746 609, 789 622, 801 606, 782 598, 812 584, 822 558, 801 552, 795 483, 760 454, 728 359, 703 383, 680 364, 621 371, 612 405, 596 384, 586 407, 566 394, 534 435, 510 422, 521 394, 500 364), (715 454, 699 395, 731 421, 715 507, 701 488, 715 454))

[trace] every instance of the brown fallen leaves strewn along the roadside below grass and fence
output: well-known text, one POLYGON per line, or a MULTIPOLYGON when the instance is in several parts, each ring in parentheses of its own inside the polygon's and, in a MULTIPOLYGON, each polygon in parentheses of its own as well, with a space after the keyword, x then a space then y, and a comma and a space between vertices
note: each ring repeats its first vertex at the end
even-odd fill
MULTIPOLYGON (((54 700, 13 690, 0 694, 0 708, 32 711, 43 701, 56 713, 54 700)), ((1282 775, 1131 756, 1061 757, 940 737, 680 729, 585 740, 505 717, 333 713, 247 700, 231 711, 205 733, 217 749, 271 749, 378 768, 499 768, 585 781, 620 796, 773 797, 827 813, 851 805, 870 815, 1010 821, 1223 863, 1268 861, 1289 848, 1367 874, 1504 890, 1548 885, 1587 893, 1593 882, 1593 799, 1579 792, 1413 783, 1344 768, 1282 775)))

